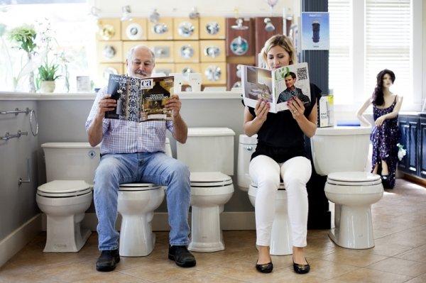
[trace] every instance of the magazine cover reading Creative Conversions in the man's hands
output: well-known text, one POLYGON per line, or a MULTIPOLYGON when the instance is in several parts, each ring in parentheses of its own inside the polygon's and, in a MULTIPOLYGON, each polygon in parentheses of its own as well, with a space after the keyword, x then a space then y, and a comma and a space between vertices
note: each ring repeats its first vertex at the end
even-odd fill
POLYGON ((174 77, 141 79, 141 122, 172 120, 172 111, 165 104, 173 94, 174 77))

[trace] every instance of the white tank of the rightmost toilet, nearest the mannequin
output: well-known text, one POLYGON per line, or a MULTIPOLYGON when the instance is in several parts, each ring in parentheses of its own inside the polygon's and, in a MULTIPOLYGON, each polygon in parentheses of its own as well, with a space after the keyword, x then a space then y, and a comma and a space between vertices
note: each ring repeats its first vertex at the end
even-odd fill
POLYGON ((371 127, 367 126, 317 128, 310 140, 317 174, 364 171, 370 133, 371 127))

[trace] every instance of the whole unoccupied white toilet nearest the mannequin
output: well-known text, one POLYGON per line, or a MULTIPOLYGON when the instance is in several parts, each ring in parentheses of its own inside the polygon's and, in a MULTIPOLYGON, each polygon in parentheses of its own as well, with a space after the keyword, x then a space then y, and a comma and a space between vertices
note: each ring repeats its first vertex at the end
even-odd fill
POLYGON ((327 175, 325 195, 334 202, 329 237, 343 248, 373 248, 371 204, 383 196, 381 178, 364 172, 370 127, 317 128, 311 138, 315 171, 327 175))

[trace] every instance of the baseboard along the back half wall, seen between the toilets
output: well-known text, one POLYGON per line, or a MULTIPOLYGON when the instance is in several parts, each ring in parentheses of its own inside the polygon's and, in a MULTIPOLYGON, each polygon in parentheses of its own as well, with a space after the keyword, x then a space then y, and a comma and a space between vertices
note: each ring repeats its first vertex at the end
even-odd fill
MULTIPOLYGON (((191 224, 191 213, 189 216, 191 224)), ((254 211, 243 212, 223 212, 220 215, 220 224, 222 230, 255 230, 256 223, 254 218, 254 211)), ((170 231, 168 225, 168 213, 156 212, 153 218, 153 231, 170 231)), ((84 216, 82 226, 89 228, 91 231, 96 231, 97 217, 96 213, 86 213, 84 216)), ((117 218, 116 229, 120 230, 121 216, 117 218)), ((42 215, 42 231, 46 230, 46 216, 42 215)))

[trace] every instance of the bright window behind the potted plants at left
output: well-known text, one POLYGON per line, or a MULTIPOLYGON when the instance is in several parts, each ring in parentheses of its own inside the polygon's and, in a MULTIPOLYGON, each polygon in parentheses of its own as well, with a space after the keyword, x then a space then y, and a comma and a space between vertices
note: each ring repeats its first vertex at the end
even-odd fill
MULTIPOLYGON (((48 1, 27 0, 22 2, 47 3, 48 1)), ((80 0, 64 0, 60 4, 15 4, 10 5, 6 12, 0 13, 0 23, 6 25, 8 31, 23 24, 33 24, 37 33, 40 33, 39 23, 46 23, 46 18, 48 18, 50 26, 54 30, 54 37, 58 42, 58 48, 53 52, 65 52, 65 57, 69 61, 67 69, 70 91, 75 91, 76 76, 94 73, 91 71, 94 67, 89 65, 90 60, 88 58, 94 57, 94 28, 96 28, 96 25, 89 19, 88 11, 89 8, 85 1, 80 0)), ((1 62, 6 63, 0 64, 0 91, 4 91, 13 89, 11 78, 16 77, 21 70, 21 65, 26 64, 26 56, 23 55, 23 51, 11 50, 11 43, 6 34, 2 36, 1 40, 0 45, 8 45, 10 55, 9 58, 2 56, 0 59, 1 62)), ((52 57, 53 55, 49 55, 49 58, 52 57)), ((40 56, 36 55, 35 75, 38 65, 40 65, 40 56)), ((62 77, 56 82, 56 92, 65 92, 65 76, 63 74, 62 70, 62 77)), ((17 91, 28 91, 27 77, 21 78, 17 91)))

